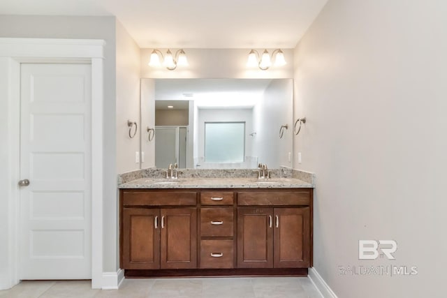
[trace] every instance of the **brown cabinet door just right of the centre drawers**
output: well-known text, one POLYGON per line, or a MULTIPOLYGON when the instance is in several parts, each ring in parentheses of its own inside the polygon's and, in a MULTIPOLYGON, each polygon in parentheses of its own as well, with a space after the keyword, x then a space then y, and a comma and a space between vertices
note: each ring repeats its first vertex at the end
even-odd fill
POLYGON ((237 267, 273 267, 272 208, 237 208, 237 267))

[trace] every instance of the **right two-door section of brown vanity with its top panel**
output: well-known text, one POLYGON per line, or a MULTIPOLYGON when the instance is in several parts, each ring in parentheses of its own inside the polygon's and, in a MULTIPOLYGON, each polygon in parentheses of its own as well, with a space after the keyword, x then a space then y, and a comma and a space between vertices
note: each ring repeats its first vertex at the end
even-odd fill
POLYGON ((311 266, 309 191, 241 192, 237 199, 238 268, 311 266))

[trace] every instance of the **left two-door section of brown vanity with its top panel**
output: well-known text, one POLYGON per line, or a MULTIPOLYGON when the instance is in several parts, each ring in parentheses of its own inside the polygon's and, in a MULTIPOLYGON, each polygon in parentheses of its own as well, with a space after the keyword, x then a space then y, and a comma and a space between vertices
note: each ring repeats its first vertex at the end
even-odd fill
POLYGON ((196 193, 122 191, 121 200, 123 269, 197 268, 196 193))

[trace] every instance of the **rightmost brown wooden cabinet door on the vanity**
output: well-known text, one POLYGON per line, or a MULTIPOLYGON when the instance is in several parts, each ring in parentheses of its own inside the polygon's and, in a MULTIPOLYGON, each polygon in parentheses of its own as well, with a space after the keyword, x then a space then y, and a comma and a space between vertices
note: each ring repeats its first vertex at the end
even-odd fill
POLYGON ((274 267, 310 266, 310 210, 274 209, 274 267))

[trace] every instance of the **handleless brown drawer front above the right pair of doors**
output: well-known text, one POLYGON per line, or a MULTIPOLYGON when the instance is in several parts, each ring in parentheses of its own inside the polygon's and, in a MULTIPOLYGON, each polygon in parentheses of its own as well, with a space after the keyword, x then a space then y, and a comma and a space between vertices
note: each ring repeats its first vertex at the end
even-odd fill
POLYGON ((237 193, 237 204, 240 206, 272 206, 272 205, 309 205, 311 191, 303 188, 300 191, 247 191, 237 193))

